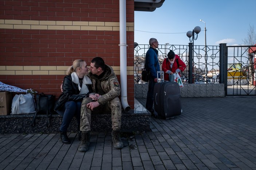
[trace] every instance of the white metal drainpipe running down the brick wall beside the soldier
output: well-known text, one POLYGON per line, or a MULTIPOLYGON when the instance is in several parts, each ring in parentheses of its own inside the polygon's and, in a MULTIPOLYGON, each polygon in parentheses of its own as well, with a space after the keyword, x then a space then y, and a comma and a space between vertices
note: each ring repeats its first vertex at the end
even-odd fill
POLYGON ((126 0, 119 0, 119 34, 120 34, 120 79, 121 103, 125 112, 131 107, 127 100, 127 60, 126 60, 126 0))

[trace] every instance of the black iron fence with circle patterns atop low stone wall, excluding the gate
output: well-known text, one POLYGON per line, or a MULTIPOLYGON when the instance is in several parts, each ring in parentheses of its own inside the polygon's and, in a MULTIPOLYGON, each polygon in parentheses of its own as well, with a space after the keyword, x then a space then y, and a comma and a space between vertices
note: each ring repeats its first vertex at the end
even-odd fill
MULTIPOLYGON (((134 83, 144 84, 141 72, 145 65, 145 55, 149 45, 138 45, 134 48, 134 83)), ((170 50, 179 55, 186 64, 186 69, 181 72, 183 83, 188 83, 189 78, 189 46, 188 45, 158 45, 158 61, 160 70, 162 63, 170 50)), ((193 82, 196 84, 218 83, 219 74, 219 46, 194 46, 193 82), (206 50, 205 50, 206 49, 206 50), (211 75, 210 75, 210 74, 211 75)))

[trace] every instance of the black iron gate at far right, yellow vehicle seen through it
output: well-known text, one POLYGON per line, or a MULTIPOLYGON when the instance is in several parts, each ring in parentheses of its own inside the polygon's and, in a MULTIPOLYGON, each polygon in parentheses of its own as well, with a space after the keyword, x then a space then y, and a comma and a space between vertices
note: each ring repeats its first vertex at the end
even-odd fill
POLYGON ((256 46, 227 46, 226 95, 256 95, 256 46))

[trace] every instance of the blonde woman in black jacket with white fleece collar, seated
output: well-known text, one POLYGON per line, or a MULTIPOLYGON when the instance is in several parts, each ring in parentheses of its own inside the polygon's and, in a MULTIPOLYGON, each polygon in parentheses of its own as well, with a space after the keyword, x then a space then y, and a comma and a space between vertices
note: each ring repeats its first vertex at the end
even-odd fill
POLYGON ((55 103, 54 110, 63 116, 60 126, 60 139, 64 144, 70 144, 67 128, 75 116, 78 123, 78 138, 81 140, 80 111, 83 98, 97 100, 97 94, 92 93, 91 80, 87 76, 88 67, 84 60, 76 59, 68 68, 68 75, 62 83, 63 92, 55 103))

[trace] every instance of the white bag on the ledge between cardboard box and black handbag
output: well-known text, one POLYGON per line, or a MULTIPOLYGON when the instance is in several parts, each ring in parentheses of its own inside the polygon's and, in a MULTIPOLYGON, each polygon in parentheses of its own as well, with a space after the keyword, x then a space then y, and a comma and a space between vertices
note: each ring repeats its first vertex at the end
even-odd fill
POLYGON ((12 99, 11 115, 28 114, 35 112, 35 100, 32 94, 16 94, 12 99))

